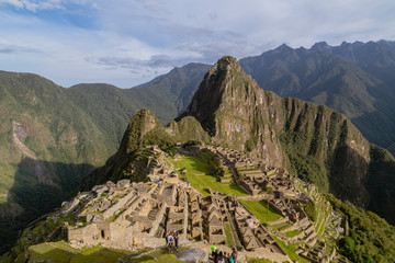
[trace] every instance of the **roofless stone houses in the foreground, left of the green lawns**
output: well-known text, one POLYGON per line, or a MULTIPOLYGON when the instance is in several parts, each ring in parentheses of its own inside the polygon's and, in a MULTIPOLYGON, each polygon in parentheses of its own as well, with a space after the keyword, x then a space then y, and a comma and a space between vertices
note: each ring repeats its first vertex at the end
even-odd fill
MULTIPOLYGON (((76 225, 66 227, 71 244, 119 249, 157 248, 165 233, 177 230, 181 242, 226 245, 225 224, 233 226, 234 239, 251 251, 266 249, 287 261, 286 253, 235 197, 217 192, 203 196, 187 183, 108 182, 83 193, 84 205, 77 211, 76 225), (122 186, 120 185, 122 184, 122 186), (232 222, 229 222, 232 221, 232 222), (253 221, 253 224, 251 224, 253 221)), ((80 198, 80 197, 79 197, 80 198)), ((69 204, 63 211, 72 213, 69 204)))

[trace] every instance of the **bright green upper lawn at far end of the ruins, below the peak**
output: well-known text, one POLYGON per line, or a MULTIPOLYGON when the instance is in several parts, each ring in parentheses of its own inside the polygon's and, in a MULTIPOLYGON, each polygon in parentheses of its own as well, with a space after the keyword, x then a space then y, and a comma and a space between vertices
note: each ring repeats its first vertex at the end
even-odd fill
POLYGON ((210 175, 211 171, 206 168, 206 164, 195 157, 181 156, 180 160, 170 158, 172 164, 177 169, 187 169, 185 179, 192 184, 192 186, 201 192, 203 195, 210 195, 206 187, 218 191, 227 195, 245 196, 248 195, 236 183, 224 184, 216 181, 216 178, 210 175), (196 175, 204 174, 204 175, 196 175))

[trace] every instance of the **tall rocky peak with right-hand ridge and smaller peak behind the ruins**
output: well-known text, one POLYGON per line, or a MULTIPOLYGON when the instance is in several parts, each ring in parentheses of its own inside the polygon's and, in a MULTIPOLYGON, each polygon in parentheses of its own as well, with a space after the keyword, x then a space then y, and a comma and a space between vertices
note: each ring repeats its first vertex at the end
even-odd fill
POLYGON ((136 114, 117 153, 84 179, 86 188, 109 179, 145 181, 147 174, 131 169, 140 146, 191 140, 253 152, 324 192, 391 222, 395 218, 388 209, 395 207, 395 159, 387 150, 370 144, 343 114, 263 91, 233 57, 208 70, 187 111, 169 126, 148 110, 136 114))

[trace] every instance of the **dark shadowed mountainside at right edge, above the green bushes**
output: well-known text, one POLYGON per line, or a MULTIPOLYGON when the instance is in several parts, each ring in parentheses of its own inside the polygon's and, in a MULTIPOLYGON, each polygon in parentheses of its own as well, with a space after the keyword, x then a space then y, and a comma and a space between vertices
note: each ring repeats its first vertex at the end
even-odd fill
POLYGON ((329 192, 395 225, 395 160, 387 150, 375 145, 371 145, 370 158, 368 164, 353 149, 339 147, 328 174, 329 192), (356 176, 363 174, 362 171, 365 171, 364 178, 356 176))

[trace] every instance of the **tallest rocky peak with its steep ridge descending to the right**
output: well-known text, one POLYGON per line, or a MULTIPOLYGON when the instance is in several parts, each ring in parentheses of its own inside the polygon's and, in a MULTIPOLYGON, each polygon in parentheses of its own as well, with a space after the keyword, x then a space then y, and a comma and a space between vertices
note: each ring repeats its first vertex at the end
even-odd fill
POLYGON ((388 165, 377 171, 377 163, 384 161, 374 153, 379 148, 371 147, 345 115, 264 92, 232 57, 221 59, 208 71, 182 116, 188 115, 202 124, 214 144, 253 151, 267 163, 286 167, 321 190, 385 214, 393 221, 393 209, 384 213, 373 204, 394 207, 390 164, 394 158, 380 149, 388 165), (386 179, 391 181, 384 186, 386 179), (385 198, 374 193, 371 182, 386 188, 385 198))

